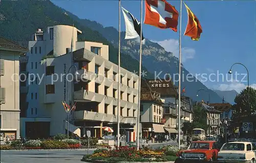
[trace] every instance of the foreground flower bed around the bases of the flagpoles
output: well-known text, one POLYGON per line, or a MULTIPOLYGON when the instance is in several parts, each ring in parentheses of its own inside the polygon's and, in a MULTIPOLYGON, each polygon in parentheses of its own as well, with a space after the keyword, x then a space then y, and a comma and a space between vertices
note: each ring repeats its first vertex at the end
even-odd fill
POLYGON ((106 162, 165 162, 174 161, 176 156, 166 155, 163 150, 137 150, 135 147, 120 147, 116 149, 99 148, 93 154, 84 155, 82 161, 102 160, 106 162))

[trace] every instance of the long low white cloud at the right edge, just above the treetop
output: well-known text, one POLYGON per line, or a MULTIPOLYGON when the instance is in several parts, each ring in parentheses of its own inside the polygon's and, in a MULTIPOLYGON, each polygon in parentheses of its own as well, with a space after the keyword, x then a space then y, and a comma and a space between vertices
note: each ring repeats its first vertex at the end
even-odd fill
MULTIPOLYGON (((233 81, 231 84, 219 84, 214 86, 215 89, 218 90, 236 90, 237 92, 241 92, 243 89, 245 89, 247 85, 238 82, 238 81, 233 81)), ((250 87, 256 89, 256 84, 251 84, 250 87)))

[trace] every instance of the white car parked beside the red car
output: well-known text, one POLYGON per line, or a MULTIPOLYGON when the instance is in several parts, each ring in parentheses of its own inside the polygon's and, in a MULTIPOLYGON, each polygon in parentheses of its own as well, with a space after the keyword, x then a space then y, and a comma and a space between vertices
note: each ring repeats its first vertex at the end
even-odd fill
POLYGON ((251 142, 225 143, 218 153, 218 161, 255 163, 255 150, 256 145, 251 142))

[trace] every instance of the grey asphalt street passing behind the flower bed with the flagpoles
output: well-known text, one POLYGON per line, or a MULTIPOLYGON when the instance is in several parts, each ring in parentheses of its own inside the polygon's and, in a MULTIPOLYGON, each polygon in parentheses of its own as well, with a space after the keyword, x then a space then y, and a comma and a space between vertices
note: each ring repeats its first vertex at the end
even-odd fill
MULTIPOLYGON (((177 142, 150 143, 152 148, 177 145, 177 142)), ((94 149, 89 149, 91 154, 94 149)), ((6 150, 1 151, 1 163, 78 163, 87 149, 62 150, 6 150)))

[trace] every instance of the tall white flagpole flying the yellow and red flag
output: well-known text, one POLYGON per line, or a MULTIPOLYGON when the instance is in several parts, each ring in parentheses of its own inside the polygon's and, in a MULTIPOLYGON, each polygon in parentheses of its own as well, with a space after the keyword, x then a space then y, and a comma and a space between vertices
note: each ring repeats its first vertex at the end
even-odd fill
POLYGON ((180 89, 181 89, 181 11, 182 11, 182 0, 180 1, 180 36, 179 36, 179 115, 178 115, 178 142, 180 149, 180 89))

